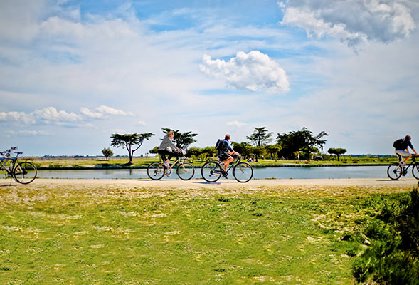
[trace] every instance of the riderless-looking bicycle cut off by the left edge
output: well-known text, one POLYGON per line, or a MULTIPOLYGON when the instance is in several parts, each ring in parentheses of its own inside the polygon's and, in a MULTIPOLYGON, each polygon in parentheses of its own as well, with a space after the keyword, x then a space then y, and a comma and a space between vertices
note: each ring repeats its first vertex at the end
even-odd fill
POLYGON ((5 178, 12 177, 16 182, 21 184, 29 184, 35 180, 38 170, 32 162, 18 162, 18 156, 23 152, 14 152, 16 157, 11 157, 11 151, 17 147, 11 147, 9 150, 0 152, 0 171, 4 171, 5 178), (7 163, 9 162, 9 167, 7 163))

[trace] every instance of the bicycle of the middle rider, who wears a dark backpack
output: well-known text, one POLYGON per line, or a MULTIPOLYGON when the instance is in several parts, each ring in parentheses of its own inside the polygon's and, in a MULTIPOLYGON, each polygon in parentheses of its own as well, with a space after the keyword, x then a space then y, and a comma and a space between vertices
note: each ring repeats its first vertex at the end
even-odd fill
MULTIPOLYGON (((248 182, 253 177, 253 168, 248 162, 240 161, 239 155, 233 155, 234 160, 230 162, 226 174, 233 168, 233 176, 240 183, 248 182)), ((224 167, 220 162, 208 161, 201 167, 201 175, 206 182, 216 182, 223 175, 224 167)))

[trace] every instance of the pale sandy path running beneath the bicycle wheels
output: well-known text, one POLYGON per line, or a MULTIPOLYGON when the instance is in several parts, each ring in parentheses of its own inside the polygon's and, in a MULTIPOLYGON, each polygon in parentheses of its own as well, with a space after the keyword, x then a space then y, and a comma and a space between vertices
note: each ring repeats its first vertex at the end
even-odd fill
POLYGON ((235 180, 218 180, 216 183, 208 183, 202 179, 193 179, 183 181, 179 179, 163 179, 159 181, 153 180, 118 180, 118 179, 36 179, 30 185, 19 185, 10 180, 4 180, 1 186, 16 187, 57 187, 57 186, 73 186, 73 187, 146 187, 146 188, 186 188, 186 189, 258 189, 260 187, 417 187, 418 180, 414 178, 402 178, 393 181, 383 178, 362 178, 362 179, 277 179, 277 180, 250 180, 247 183, 239 183, 235 180))

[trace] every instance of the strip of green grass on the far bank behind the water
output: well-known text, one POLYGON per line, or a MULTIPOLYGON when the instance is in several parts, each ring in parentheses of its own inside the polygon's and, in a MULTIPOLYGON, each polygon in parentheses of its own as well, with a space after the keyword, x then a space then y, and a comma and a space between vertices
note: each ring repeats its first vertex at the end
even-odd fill
MULTIPOLYGON (((41 160, 33 158, 33 162, 37 167, 95 167, 95 166, 126 166, 127 157, 111 157, 105 160, 103 157, 87 157, 87 158, 55 158, 41 160)), ((132 166, 147 167, 151 162, 159 161, 157 157, 134 157, 132 166)), ((189 160, 191 161, 191 160, 189 160)), ((191 161, 192 162, 192 161, 191 161)), ((389 164, 396 162, 396 157, 344 157, 341 160, 324 160, 324 161, 299 161, 299 160, 267 160, 260 159, 258 162, 252 162, 252 165, 348 165, 348 164, 389 164)), ((193 165, 203 165, 203 161, 194 160, 193 165)))

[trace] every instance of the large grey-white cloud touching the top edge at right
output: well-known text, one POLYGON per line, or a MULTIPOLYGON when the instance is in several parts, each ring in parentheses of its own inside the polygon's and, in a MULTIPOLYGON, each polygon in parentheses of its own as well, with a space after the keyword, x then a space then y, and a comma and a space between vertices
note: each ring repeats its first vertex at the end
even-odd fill
POLYGON ((309 36, 332 36, 348 46, 366 41, 389 43, 416 28, 402 0, 290 0, 280 3, 281 24, 304 28, 309 36))

